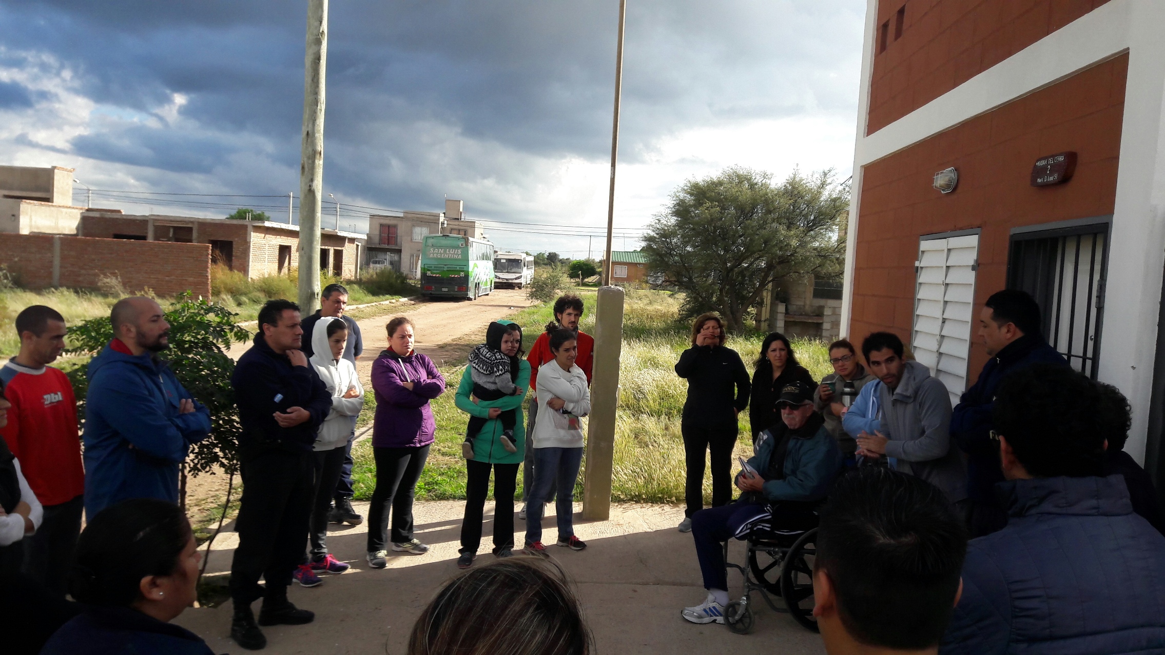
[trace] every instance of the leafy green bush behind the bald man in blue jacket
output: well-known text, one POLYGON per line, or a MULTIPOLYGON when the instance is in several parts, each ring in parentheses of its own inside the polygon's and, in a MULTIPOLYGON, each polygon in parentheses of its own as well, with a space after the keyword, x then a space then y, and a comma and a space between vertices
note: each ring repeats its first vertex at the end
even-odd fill
MULTIPOLYGON (((232 343, 250 340, 250 333, 235 325, 238 314, 209 300, 191 298, 190 292, 178 297, 178 301, 165 311, 170 323, 170 348, 162 353, 174 375, 186 391, 211 413, 211 434, 190 448, 183 467, 183 491, 185 475, 211 472, 221 468, 226 472, 238 471, 236 449, 242 427, 234 405, 231 375, 234 359, 226 350, 232 343)), ((71 354, 97 355, 113 339, 110 319, 90 319, 69 329, 71 354)), ((85 396, 89 391, 86 366, 69 371, 73 393, 77 396, 78 414, 85 415, 85 396)), ((183 496, 185 505, 185 496, 183 496)))

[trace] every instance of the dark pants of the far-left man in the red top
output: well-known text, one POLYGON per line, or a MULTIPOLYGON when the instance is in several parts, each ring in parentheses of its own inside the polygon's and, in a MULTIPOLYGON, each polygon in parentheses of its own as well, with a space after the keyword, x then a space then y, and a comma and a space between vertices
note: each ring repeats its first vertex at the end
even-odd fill
POLYGON ((69 562, 77 550, 80 535, 80 515, 85 510, 85 496, 65 500, 59 505, 45 505, 44 519, 36 534, 21 540, 24 544, 24 572, 41 581, 45 590, 64 598, 69 592, 69 562))

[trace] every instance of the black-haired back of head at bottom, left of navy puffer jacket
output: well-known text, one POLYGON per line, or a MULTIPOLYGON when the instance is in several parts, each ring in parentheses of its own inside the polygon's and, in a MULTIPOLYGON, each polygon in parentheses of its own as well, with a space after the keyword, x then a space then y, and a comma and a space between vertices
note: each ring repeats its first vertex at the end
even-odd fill
POLYGON ((942 638, 966 555, 967 529, 940 489, 862 467, 829 492, 813 567, 828 576, 850 636, 916 650, 942 638))

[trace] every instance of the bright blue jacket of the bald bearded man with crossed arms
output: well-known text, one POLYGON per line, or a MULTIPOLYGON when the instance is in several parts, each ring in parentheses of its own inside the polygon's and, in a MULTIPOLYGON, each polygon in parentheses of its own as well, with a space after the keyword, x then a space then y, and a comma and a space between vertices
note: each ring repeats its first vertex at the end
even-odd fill
MULTIPOLYGON (((118 343, 119 346, 120 342, 118 343)), ((121 346, 121 348, 125 348, 121 346)), ((211 414, 165 362, 106 346, 89 363, 85 397, 85 514, 127 498, 178 501, 178 465, 211 432, 211 414)))

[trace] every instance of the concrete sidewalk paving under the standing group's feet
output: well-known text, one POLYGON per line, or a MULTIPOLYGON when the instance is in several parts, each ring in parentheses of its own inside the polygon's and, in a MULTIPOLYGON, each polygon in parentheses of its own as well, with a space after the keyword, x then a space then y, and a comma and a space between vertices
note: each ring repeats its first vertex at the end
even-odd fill
MULTIPOLYGON (((356 511, 367 517, 367 504, 356 511)), ((308 626, 263 628, 264 653, 403 654, 409 632, 422 608, 442 584, 456 576, 463 501, 417 503, 416 536, 432 548, 425 555, 391 553, 388 568, 369 569, 365 561, 366 527, 340 528, 329 534, 332 554, 352 564, 343 576, 325 576, 324 584, 291 585, 291 600, 316 612, 308 626)), ((788 655, 824 653, 820 638, 784 613, 772 612, 758 593, 753 596, 755 627, 735 635, 721 625, 697 626, 679 617, 686 605, 704 600, 696 549, 690 534, 676 529, 680 507, 614 505, 608 521, 586 522, 576 505, 576 533, 588 544, 572 551, 551 546, 552 557, 574 582, 596 653, 701 653, 734 655, 779 652, 788 655)), ((493 504, 486 505, 485 536, 475 565, 493 560, 493 504)), ((556 537, 553 507, 548 507, 544 536, 556 537)), ((525 522, 515 520, 515 541, 523 543, 525 522)), ((210 554, 207 575, 230 570, 234 533, 219 535, 210 554)), ((743 547, 733 542, 730 557, 743 561, 743 547)), ((729 571, 729 591, 740 593, 740 575, 729 571)), ((778 606, 779 600, 777 600, 778 606)), ((259 611, 259 604, 255 604, 259 611)), ((216 653, 246 653, 230 640, 231 604, 188 610, 175 622, 202 635, 216 653)))

